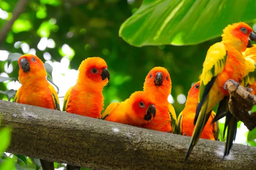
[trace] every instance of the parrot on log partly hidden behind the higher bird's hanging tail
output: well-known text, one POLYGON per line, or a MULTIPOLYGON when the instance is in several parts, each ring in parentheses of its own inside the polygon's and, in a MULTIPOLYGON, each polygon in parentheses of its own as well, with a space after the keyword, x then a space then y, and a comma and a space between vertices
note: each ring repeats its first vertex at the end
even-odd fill
MULTIPOLYGON (((185 136, 192 136, 194 130, 195 111, 197 107, 198 95, 199 95, 200 81, 196 82, 189 90, 185 108, 180 113, 177 119, 177 133, 185 136)), ((207 121, 204 130, 201 133, 200 138, 218 140, 220 128, 218 121, 212 123, 215 117, 214 111, 212 111, 209 120, 207 121)))

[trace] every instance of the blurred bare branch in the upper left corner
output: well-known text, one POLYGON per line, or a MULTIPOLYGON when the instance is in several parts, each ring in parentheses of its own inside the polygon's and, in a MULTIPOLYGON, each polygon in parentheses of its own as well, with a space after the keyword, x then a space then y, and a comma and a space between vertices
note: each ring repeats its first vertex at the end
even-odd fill
POLYGON ((3 40, 5 40, 8 32, 12 28, 13 23, 15 22, 15 20, 17 20, 17 18, 20 16, 20 14, 23 13, 23 11, 25 10, 28 3, 29 3, 29 0, 19 0, 17 2, 14 10, 12 11, 11 20, 6 21, 5 25, 3 26, 3 28, 0 31, 0 44, 3 42, 3 40))

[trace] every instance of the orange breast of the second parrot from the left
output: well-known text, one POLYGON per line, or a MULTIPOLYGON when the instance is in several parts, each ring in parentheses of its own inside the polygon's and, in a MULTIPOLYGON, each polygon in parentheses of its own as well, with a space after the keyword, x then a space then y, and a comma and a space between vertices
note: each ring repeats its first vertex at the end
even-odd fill
POLYGON ((100 118, 103 109, 103 99, 102 92, 83 91, 74 86, 69 96, 66 111, 82 116, 100 118))

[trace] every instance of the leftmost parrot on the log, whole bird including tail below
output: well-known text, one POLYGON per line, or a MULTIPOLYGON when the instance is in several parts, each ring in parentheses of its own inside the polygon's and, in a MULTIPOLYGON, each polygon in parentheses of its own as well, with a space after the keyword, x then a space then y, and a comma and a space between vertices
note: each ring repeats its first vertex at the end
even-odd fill
MULTIPOLYGON (((47 72, 41 59, 32 54, 25 54, 19 58, 18 64, 21 87, 14 102, 60 110, 57 92, 47 82, 47 72)), ((53 162, 42 159, 40 162, 43 170, 54 170, 53 162)))

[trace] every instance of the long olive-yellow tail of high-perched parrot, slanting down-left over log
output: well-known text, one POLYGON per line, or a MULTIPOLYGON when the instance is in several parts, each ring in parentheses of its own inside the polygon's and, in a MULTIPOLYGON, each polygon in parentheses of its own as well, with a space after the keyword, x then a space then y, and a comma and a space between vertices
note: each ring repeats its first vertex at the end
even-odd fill
POLYGON ((209 116, 212 113, 212 110, 209 111, 208 113, 206 112, 207 111, 207 106, 208 106, 208 100, 206 102, 207 103, 206 103, 206 107, 204 108, 204 112, 202 112, 202 113, 200 112, 200 114, 198 116, 198 121, 195 124, 195 128, 194 128, 194 131, 193 131, 193 134, 192 134, 192 138, 190 139, 190 143, 189 143, 189 148, 186 152, 185 161, 189 157, 190 153, 192 152, 192 149, 195 146, 195 144, 197 144, 197 142, 198 142, 198 140, 201 136, 201 133, 204 129, 204 126, 206 125, 206 123, 209 119, 209 116))

